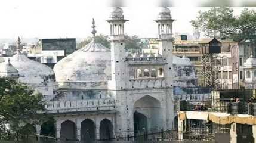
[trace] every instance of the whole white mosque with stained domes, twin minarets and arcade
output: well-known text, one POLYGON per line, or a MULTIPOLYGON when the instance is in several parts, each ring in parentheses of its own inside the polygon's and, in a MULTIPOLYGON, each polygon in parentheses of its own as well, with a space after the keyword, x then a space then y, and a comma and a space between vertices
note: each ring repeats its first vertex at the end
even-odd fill
MULTIPOLYGON (((155 54, 125 53, 126 21, 123 10, 114 7, 107 19, 110 49, 93 39, 60 60, 53 70, 18 52, 0 59, 0 76, 26 83, 44 95, 57 138, 110 139, 122 133, 173 129, 177 115, 174 86, 186 86, 182 83, 186 76, 195 81, 196 76, 189 59, 172 56, 170 10, 162 7, 155 20, 159 35, 155 54), (177 70, 184 66, 190 74, 177 70), (178 74, 184 77, 176 77, 178 74)), ((94 21, 92 24, 95 36, 94 21)), ((42 133, 41 128, 36 126, 36 131, 42 133)))

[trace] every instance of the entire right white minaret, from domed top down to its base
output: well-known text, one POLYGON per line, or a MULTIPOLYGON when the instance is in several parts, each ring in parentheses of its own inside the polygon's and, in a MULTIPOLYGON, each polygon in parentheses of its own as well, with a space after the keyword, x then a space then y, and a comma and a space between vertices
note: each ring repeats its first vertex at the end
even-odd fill
POLYGON ((171 11, 167 7, 162 7, 158 13, 158 18, 155 20, 158 23, 159 35, 159 54, 166 60, 164 66, 164 79, 166 82, 165 89, 165 104, 166 104, 166 129, 172 129, 174 125, 174 104, 173 104, 173 68, 172 68, 172 20, 171 11))

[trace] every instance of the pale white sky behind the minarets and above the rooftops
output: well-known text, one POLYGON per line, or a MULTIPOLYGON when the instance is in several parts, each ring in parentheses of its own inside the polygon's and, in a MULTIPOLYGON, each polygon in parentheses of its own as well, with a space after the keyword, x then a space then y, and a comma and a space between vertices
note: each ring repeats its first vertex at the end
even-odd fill
MULTIPOLYGON (((196 0, 195 0, 196 1, 196 0)), ((190 20, 199 10, 194 0, 175 0, 171 15, 175 21, 173 31, 192 33, 190 20)), ((109 34, 110 8, 107 0, 0 0, 0 38, 86 38, 91 36, 94 17, 96 30, 109 34)), ((150 0, 129 0, 124 7, 125 33, 140 38, 155 37, 158 8, 150 0)), ((243 8, 235 8, 239 14, 243 8)))

